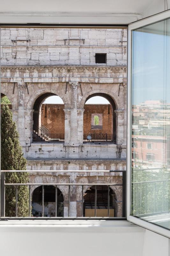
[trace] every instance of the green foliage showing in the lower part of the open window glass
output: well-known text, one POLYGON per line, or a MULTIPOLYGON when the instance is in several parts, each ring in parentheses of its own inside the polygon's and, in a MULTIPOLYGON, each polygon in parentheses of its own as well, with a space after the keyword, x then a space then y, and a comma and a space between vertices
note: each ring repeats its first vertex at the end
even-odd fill
POLYGON ((132 214, 153 214, 170 210, 170 170, 132 169, 132 214))

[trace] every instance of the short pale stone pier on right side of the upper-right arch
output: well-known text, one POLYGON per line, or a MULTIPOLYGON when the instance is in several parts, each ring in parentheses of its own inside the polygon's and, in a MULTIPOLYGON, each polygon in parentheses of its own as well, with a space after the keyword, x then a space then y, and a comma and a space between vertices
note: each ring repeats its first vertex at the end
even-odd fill
POLYGON ((122 109, 116 109, 115 110, 116 113, 116 144, 118 145, 122 145, 123 143, 123 139, 124 139, 124 110, 122 109))

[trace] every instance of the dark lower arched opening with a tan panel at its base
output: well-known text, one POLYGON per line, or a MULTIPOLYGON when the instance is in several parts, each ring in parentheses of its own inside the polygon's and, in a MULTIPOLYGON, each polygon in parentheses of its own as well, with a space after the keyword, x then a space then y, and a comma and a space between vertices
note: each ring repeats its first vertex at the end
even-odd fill
MULTIPOLYGON (((115 192, 107 185, 96 186, 96 217, 108 217, 108 199, 109 199, 109 217, 117 216, 117 205, 115 192)), ((95 186, 88 188, 83 196, 83 216, 95 217, 95 186)))

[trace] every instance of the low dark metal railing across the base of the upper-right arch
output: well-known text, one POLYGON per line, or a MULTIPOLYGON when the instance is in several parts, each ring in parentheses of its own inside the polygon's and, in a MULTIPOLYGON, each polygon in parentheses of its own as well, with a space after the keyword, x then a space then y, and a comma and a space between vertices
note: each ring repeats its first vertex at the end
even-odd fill
POLYGON ((116 143, 116 141, 114 140, 114 136, 113 134, 107 134, 107 133, 87 133, 87 134, 83 134, 83 142, 112 142, 112 143, 116 143), (90 135, 91 136, 91 140, 87 139, 87 136, 90 135))

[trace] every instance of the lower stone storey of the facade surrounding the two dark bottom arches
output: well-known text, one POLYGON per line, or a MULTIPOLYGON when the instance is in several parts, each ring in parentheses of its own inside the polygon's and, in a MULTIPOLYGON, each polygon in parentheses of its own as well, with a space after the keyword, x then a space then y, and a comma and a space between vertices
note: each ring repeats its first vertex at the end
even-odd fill
MULTIPOLYGON (((79 184, 122 184, 122 170, 126 169, 125 161, 120 160, 28 160, 27 169, 35 170, 30 175, 31 183, 79 183, 79 184), (51 170, 49 173, 38 171, 51 170), (65 170, 65 172, 53 172, 65 170), (85 172, 67 172, 67 170, 85 170, 85 172), (93 170, 94 172, 86 172, 93 170), (120 172, 98 172, 99 170, 116 170, 120 172), (37 171, 37 172, 36 172, 37 171)), ((31 186, 33 190, 38 186, 31 186)), ((90 186, 84 186, 84 193, 90 186)), ((68 186, 58 186, 64 198, 64 217, 81 217, 81 187, 72 186, 70 194, 70 209, 68 207, 68 186)), ((110 186, 115 193, 116 217, 122 217, 122 186, 110 186)), ((124 202, 125 203, 125 202, 124 202)))

